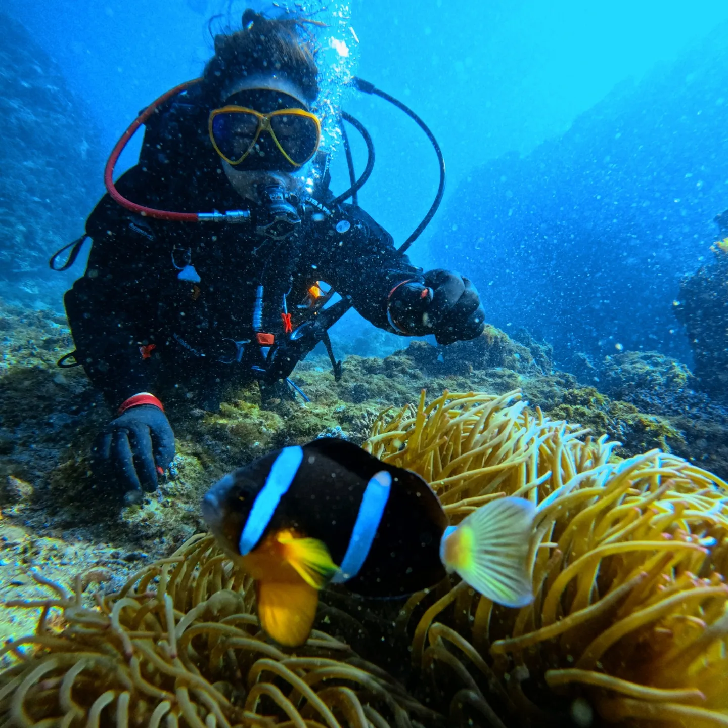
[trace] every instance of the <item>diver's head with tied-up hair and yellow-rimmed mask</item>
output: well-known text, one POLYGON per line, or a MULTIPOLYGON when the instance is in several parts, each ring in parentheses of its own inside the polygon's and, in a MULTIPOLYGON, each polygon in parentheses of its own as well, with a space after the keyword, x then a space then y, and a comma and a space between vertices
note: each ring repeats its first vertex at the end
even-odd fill
POLYGON ((234 189, 253 202, 266 185, 301 186, 320 124, 315 47, 296 17, 269 19, 248 9, 242 30, 215 36, 203 84, 208 132, 234 189))

